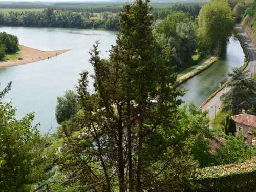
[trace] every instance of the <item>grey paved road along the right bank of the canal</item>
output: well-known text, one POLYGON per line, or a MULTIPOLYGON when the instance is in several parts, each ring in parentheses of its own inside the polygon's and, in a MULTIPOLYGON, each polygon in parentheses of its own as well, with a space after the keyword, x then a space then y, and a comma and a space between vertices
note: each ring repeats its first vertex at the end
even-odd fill
MULTIPOLYGON (((247 39, 247 37, 245 36, 244 32, 242 31, 242 29, 240 28, 240 24, 236 25, 236 29, 239 33, 239 36, 241 37, 243 43, 245 44, 245 42, 248 43, 248 45, 245 45, 245 48, 248 51, 249 54, 249 63, 248 66, 245 68, 245 70, 250 70, 248 77, 251 76, 251 73, 256 71, 256 49, 252 46, 252 44, 250 43, 250 41, 247 39)), ((229 90, 229 88, 225 88, 224 90, 221 90, 215 97, 213 97, 211 100, 209 100, 204 106, 203 106, 203 110, 209 109, 209 117, 210 119, 213 119, 215 116, 215 112, 217 113, 220 105, 221 105, 221 101, 220 101, 220 96, 223 93, 226 93, 229 90), (215 111, 216 110, 216 111, 215 111)))

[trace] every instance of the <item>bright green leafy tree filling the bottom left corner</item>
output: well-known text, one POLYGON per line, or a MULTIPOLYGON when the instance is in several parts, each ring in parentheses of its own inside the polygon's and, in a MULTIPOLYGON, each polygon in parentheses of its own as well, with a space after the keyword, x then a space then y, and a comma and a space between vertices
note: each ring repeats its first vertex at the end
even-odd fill
POLYGON ((38 124, 31 126, 33 113, 17 120, 15 110, 0 103, 0 191, 25 192, 54 173, 45 173, 51 159, 42 156, 44 142, 38 124))

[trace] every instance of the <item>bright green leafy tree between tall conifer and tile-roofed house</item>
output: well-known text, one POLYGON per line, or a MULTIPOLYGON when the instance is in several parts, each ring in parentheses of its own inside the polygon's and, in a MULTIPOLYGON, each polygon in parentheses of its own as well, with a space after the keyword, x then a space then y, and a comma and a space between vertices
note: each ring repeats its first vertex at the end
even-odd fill
POLYGON ((199 162, 201 168, 215 164, 209 146, 213 133, 209 129, 208 111, 199 110, 195 103, 188 103, 181 108, 179 114, 182 116, 179 130, 184 131, 183 141, 194 160, 199 162))

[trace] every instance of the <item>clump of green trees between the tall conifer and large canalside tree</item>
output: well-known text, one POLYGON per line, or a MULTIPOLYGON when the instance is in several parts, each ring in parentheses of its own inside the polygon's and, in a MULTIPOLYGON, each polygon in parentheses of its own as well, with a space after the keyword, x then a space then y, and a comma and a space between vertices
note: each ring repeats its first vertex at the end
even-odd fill
POLYGON ((196 28, 190 20, 189 13, 179 11, 167 15, 164 20, 156 20, 154 28, 158 40, 156 52, 161 53, 165 47, 171 47, 174 55, 170 66, 184 67, 196 50, 196 28))

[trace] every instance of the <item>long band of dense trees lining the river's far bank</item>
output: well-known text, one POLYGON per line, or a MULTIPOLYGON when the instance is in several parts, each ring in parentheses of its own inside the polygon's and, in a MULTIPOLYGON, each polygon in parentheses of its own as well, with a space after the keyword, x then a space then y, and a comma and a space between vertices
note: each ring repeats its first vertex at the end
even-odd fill
MULTIPOLYGON (((104 12, 103 12, 104 13, 104 12)), ((111 13, 112 14, 112 13, 111 13)), ((0 13, 0 25, 11 26, 46 26, 46 27, 84 27, 84 28, 105 28, 117 30, 117 17, 106 20, 90 19, 93 16, 91 10, 82 12, 71 12, 47 8, 44 11, 31 12, 10 12, 9 14, 0 13)))

